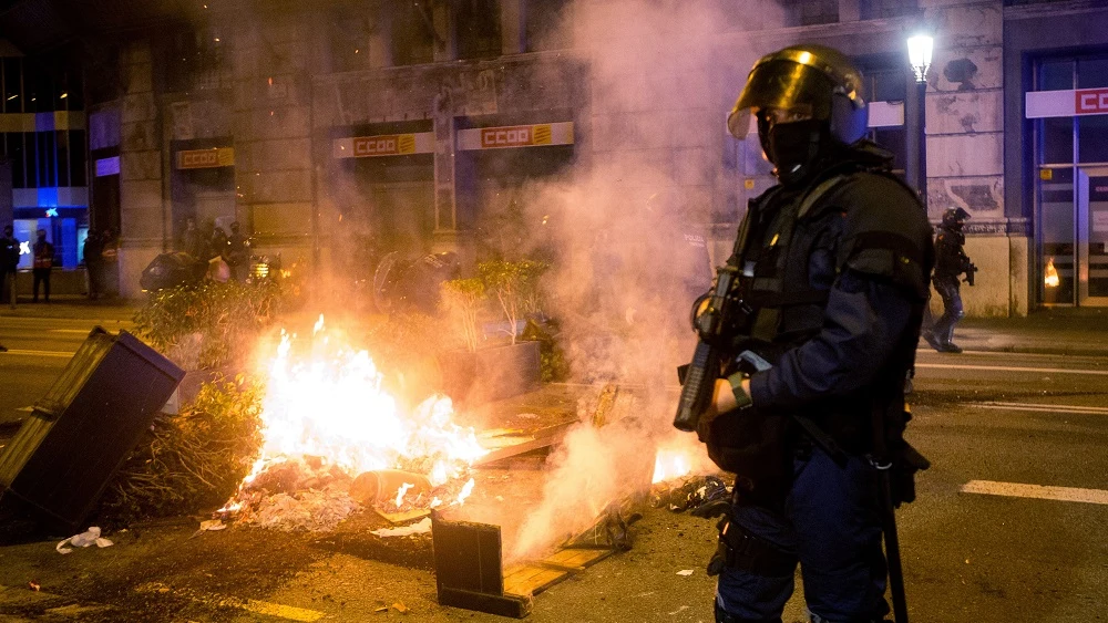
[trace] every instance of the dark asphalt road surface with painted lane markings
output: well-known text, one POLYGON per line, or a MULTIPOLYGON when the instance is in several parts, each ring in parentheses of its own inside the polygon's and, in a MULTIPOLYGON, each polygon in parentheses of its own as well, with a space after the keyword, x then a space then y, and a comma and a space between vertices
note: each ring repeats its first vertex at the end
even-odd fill
MULTIPOLYGON (((0 420, 25 415, 14 409, 89 326, 0 323, 0 420)), ((1108 620, 1108 357, 921 351, 919 363, 909 438, 934 466, 897 512, 912 620, 1108 620)), ((0 444, 12 432, 0 427, 0 444)), ((503 621, 438 605, 418 562, 195 528, 136 527, 65 557, 54 542, 2 544, 0 621, 503 621)), ((708 623, 714 538, 709 521, 650 509, 632 551, 537 595, 530 620, 708 623)), ((798 579, 786 622, 807 621, 798 579)))

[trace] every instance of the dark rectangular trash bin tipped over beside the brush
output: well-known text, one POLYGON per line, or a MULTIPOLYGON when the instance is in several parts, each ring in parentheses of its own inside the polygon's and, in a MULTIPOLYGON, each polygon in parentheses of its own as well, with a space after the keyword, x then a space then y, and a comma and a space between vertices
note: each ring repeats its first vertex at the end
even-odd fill
POLYGON ((126 331, 89 334, 0 454, 0 503, 81 531, 184 372, 126 331))

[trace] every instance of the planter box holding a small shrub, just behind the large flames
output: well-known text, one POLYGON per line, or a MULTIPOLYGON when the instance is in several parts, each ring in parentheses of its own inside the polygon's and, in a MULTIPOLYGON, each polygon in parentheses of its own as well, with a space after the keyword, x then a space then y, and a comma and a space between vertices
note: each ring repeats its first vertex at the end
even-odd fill
POLYGON ((458 404, 517 396, 538 386, 538 342, 516 342, 476 352, 439 355, 442 391, 458 404))

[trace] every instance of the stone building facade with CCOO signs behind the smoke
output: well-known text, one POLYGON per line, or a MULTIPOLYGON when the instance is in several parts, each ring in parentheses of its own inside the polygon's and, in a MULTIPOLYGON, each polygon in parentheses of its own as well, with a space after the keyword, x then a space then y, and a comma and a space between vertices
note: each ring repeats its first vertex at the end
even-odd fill
POLYGON ((629 210, 680 212, 718 263, 772 184, 757 138, 722 123, 753 61, 796 42, 851 55, 872 136, 903 169, 921 108, 905 40, 925 30, 927 210, 973 216, 967 312, 1101 305, 1102 4, 212 2, 86 51, 85 209, 120 230, 124 294, 188 218, 237 220, 259 252, 357 277, 390 251, 472 263, 536 185, 597 178, 629 210))

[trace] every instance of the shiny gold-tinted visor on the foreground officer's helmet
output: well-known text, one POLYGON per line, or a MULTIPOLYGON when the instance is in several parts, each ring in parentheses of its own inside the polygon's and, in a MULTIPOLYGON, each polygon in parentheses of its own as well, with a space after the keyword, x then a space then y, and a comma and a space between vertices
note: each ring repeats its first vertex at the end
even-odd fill
POLYGON ((753 108, 789 110, 806 105, 814 118, 830 118, 833 89, 827 74, 796 61, 773 59, 758 63, 727 116, 727 129, 736 138, 746 138, 753 108))

